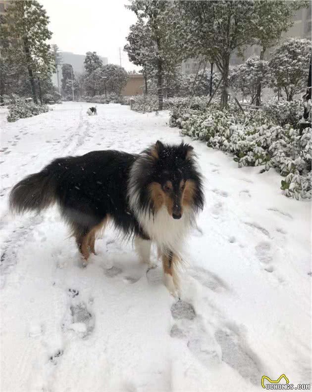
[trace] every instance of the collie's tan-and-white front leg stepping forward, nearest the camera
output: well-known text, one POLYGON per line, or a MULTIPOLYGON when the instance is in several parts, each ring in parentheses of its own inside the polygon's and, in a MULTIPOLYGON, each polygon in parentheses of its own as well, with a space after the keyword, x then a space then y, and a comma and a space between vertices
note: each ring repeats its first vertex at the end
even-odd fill
POLYGON ((177 263, 180 261, 180 259, 171 250, 165 249, 162 251, 161 260, 164 284, 173 296, 177 296, 179 294, 177 263))

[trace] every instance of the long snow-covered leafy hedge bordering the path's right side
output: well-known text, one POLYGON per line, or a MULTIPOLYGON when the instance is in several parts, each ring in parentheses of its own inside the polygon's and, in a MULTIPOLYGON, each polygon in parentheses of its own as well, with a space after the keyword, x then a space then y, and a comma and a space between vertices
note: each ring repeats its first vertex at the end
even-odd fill
POLYGON ((182 114, 173 109, 170 125, 178 126, 182 134, 205 140, 208 147, 233 154, 239 167, 275 168, 285 177, 281 189, 286 196, 311 198, 311 128, 301 134, 290 125, 274 124, 265 113, 242 116, 234 109, 220 111, 210 106, 182 114))

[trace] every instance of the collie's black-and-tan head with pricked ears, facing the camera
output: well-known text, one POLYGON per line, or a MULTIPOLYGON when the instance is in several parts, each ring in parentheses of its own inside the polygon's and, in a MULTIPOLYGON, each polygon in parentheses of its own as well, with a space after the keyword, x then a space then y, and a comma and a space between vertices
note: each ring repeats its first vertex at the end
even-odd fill
POLYGON ((195 212, 203 208, 202 177, 189 144, 169 145, 158 140, 137 160, 133 174, 130 186, 136 187, 141 209, 155 214, 165 206, 172 218, 180 219, 184 208, 195 212))

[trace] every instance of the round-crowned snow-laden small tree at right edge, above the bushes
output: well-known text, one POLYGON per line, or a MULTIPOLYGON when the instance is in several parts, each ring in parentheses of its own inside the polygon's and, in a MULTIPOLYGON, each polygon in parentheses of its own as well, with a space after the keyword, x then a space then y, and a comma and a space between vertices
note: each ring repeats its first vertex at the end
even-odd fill
POLYGON ((311 41, 289 38, 273 53, 269 66, 273 86, 285 91, 287 101, 306 90, 311 41))

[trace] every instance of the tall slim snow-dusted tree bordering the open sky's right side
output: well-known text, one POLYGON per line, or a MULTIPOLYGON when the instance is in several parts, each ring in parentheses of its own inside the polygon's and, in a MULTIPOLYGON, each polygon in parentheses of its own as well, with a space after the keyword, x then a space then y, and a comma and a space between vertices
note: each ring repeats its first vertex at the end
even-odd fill
MULTIPOLYGON (((149 72, 151 69, 156 76, 158 110, 162 110, 164 74, 174 73, 176 66, 181 63, 179 52, 175 50, 175 35, 170 30, 169 22, 174 17, 172 3, 170 1, 131 0, 131 4, 126 7, 135 12, 141 21, 140 26, 146 26, 146 35, 141 40, 144 41, 148 36, 150 47, 146 49, 144 56, 148 58, 149 72)), ((140 37, 137 38, 140 39, 140 37)), ((139 47, 145 47, 145 43, 140 43, 139 47)))

